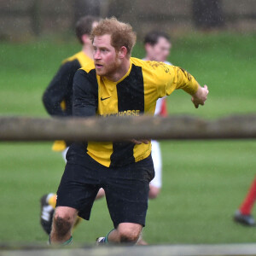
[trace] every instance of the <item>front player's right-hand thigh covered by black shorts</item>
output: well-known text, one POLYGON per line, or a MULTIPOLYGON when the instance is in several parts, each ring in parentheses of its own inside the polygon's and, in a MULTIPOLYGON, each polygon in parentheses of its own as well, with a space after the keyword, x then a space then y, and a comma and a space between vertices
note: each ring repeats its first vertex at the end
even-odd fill
POLYGON ((154 177, 151 156, 137 163, 109 170, 104 184, 108 210, 116 228, 121 223, 145 225, 149 182, 154 177))

